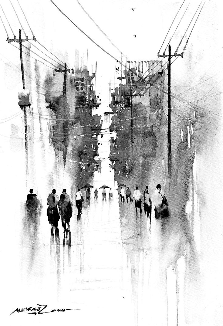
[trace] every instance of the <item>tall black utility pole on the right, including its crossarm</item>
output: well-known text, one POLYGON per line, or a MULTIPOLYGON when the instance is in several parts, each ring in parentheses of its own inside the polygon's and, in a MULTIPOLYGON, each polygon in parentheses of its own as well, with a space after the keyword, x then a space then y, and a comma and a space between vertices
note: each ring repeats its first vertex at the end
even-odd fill
POLYGON ((180 54, 177 54, 176 51, 174 54, 171 54, 171 46, 169 44, 169 52, 168 54, 159 54, 158 52, 158 58, 163 57, 166 58, 168 57, 168 99, 167 99, 167 107, 168 107, 168 130, 167 130, 167 139, 168 139, 168 176, 169 179, 171 178, 171 169, 172 169, 172 150, 171 150, 171 57, 175 56, 181 56, 183 58, 184 52, 181 52, 180 54))

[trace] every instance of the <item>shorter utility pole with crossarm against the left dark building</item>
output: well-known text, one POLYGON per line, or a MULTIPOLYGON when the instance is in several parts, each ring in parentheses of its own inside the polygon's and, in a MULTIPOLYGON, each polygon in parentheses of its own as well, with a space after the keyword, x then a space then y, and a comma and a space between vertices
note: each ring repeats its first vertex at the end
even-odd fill
MULTIPOLYGON (((64 170, 66 166, 66 159, 67 159, 67 111, 66 111, 66 95, 67 95, 67 71, 70 72, 70 69, 67 69, 67 63, 65 62, 64 69, 55 69, 56 72, 64 72, 64 85, 63 85, 63 158, 64 158, 64 170)), ((73 71, 72 71, 73 72, 73 71)))

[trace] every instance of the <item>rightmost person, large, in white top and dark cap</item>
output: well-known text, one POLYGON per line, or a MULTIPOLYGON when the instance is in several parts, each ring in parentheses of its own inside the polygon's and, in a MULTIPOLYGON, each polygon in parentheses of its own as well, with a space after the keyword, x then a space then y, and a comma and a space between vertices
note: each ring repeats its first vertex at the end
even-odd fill
POLYGON ((155 218, 158 219, 159 217, 168 217, 170 216, 169 209, 168 209, 168 201, 164 194, 161 193, 161 185, 156 185, 156 191, 153 198, 154 203, 154 211, 155 211, 155 218))

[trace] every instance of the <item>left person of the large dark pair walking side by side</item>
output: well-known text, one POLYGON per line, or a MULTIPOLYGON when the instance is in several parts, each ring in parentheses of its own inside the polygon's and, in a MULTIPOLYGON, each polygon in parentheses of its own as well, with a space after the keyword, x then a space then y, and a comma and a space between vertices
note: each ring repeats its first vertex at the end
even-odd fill
POLYGON ((57 204, 59 202, 59 197, 56 194, 56 190, 53 189, 52 193, 47 197, 47 216, 48 221, 51 224, 51 232, 53 232, 53 226, 55 228, 55 232, 58 231, 58 221, 60 219, 60 215, 58 212, 57 204))

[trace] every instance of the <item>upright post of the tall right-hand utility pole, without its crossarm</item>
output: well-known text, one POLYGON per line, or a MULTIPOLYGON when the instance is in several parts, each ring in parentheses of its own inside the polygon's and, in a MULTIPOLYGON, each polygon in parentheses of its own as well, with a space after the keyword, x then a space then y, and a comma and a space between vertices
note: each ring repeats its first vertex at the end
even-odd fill
POLYGON ((171 46, 168 54, 168 174, 171 177, 172 152, 171 152, 171 46))

